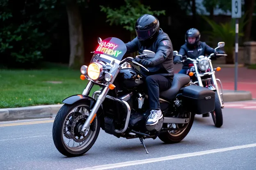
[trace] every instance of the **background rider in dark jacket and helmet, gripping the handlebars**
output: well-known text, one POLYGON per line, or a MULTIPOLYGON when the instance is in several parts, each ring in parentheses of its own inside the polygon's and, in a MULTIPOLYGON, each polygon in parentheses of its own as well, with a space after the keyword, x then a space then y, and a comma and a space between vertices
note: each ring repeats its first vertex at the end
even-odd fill
MULTIPOLYGON (((178 52, 179 55, 187 56, 188 58, 196 59, 198 56, 201 55, 210 55, 212 53, 216 54, 225 54, 224 51, 216 51, 207 45, 205 42, 201 42, 200 40, 200 32, 195 29, 191 28, 187 30, 185 34, 185 44, 181 46, 180 51, 178 52)), ((216 56, 219 57, 219 56, 216 56)), ((182 60, 181 56, 174 57, 174 63, 178 63, 182 60)), ((188 65, 192 64, 193 62, 190 60, 185 60, 183 62, 183 67, 180 72, 181 74, 186 74, 188 65)))

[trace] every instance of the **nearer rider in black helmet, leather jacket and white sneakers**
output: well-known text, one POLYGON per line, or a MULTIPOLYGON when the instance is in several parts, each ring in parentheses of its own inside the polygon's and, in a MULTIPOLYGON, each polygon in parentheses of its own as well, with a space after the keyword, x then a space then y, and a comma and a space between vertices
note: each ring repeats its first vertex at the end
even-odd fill
POLYGON ((162 31, 155 16, 144 14, 135 23, 137 37, 126 43, 126 54, 144 49, 154 51, 154 58, 137 59, 147 72, 141 67, 141 73, 146 77, 149 96, 150 115, 146 125, 155 125, 163 115, 160 110, 159 92, 171 87, 174 77, 173 48, 169 36, 162 31))

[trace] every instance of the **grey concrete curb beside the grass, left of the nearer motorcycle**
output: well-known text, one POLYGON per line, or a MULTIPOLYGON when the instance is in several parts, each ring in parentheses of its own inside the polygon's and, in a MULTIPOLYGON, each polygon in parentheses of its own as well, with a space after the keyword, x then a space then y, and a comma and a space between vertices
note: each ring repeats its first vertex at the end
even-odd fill
POLYGON ((51 118, 57 114, 61 105, 39 105, 29 107, 0 109, 0 121, 14 121, 21 119, 51 118))

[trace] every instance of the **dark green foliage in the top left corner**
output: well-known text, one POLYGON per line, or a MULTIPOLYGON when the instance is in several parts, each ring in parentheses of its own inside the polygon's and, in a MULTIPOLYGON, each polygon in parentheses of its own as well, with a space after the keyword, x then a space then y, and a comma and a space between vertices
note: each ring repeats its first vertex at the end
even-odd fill
POLYGON ((7 62, 5 64, 31 66, 43 58, 42 51, 51 45, 46 35, 55 28, 56 25, 51 23, 59 17, 49 10, 55 3, 56 0, 20 1, 18 4, 22 5, 15 7, 11 0, 1 0, 0 55, 7 62))

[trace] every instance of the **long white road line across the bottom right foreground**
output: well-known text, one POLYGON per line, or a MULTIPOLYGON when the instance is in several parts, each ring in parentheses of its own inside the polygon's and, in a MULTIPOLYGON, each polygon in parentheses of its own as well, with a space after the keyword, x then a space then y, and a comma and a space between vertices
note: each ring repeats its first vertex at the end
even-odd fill
POLYGON ((199 156, 199 155, 204 155, 204 154, 212 154, 212 153, 217 153, 217 152, 226 152, 226 151, 229 151, 229 150, 237 150, 237 149, 252 148, 252 147, 256 147, 256 143, 252 143, 252 144, 248 144, 248 145, 233 146, 233 147, 229 147, 229 148, 219 148, 219 149, 213 149, 213 150, 205 150, 205 151, 201 151, 201 152, 176 154, 176 155, 171 155, 171 156, 168 156, 168 157, 142 159, 142 160, 137 160, 137 161, 128 161, 128 162, 113 163, 113 164, 108 164, 108 165, 93 166, 93 167, 81 168, 81 169, 76 169, 76 170, 106 170, 106 169, 120 168, 120 167, 125 167, 125 166, 140 165, 140 164, 144 164, 144 163, 153 163, 153 162, 167 161, 167 160, 171 160, 171 159, 194 157, 194 156, 199 156))

